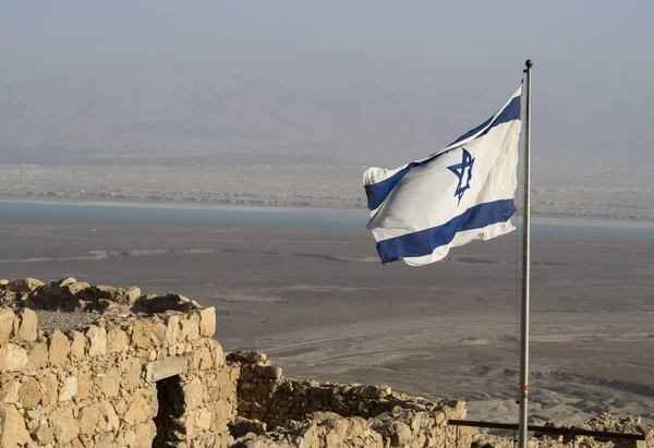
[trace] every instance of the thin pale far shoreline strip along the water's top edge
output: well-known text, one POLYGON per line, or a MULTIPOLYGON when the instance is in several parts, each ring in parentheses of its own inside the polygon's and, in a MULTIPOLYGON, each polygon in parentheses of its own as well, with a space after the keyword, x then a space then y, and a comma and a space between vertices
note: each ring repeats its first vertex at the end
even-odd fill
MULTIPOLYGON (((328 215, 337 213, 344 216, 367 216, 367 209, 359 208, 327 208, 327 207, 284 207, 275 205, 242 205, 242 204, 215 204, 215 203, 192 203, 182 201, 132 201, 117 198, 81 198, 81 197, 33 197, 33 196, 0 196, 2 204, 44 204, 44 205, 64 205, 64 206, 89 206, 89 207, 132 207, 132 208, 159 208, 173 210, 234 210, 234 211, 264 211, 270 214, 280 214, 284 211, 301 213, 307 215, 328 215)), ((513 216, 514 225, 520 225, 520 216, 513 216)), ((638 219, 610 219, 610 218, 573 218, 532 215, 532 221, 537 225, 548 226, 576 226, 576 227, 617 227, 633 229, 654 229, 654 221, 638 219)))

